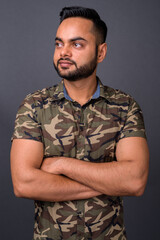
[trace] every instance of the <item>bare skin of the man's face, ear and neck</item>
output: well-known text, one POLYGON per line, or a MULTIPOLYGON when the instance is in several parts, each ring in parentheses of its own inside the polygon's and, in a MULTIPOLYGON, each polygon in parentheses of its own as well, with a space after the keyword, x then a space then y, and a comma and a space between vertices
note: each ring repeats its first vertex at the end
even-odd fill
MULTIPOLYGON (((65 19, 57 30, 56 39, 59 39, 60 41, 56 41, 53 58, 55 65, 57 65, 60 58, 69 58, 70 60, 73 60, 76 62, 77 67, 88 64, 93 60, 96 51, 97 38, 93 31, 92 21, 78 17, 65 19), (73 41, 73 39, 79 40, 73 41)), ((97 64, 104 60, 106 52, 106 43, 98 45, 97 64)), ((76 70, 74 64, 67 65, 67 62, 66 64, 62 62, 62 64, 59 65, 59 68, 63 74, 76 70)), ((85 104, 96 90, 96 70, 97 68, 88 78, 82 78, 74 82, 64 79, 68 94, 73 100, 79 102, 81 105, 85 104)))

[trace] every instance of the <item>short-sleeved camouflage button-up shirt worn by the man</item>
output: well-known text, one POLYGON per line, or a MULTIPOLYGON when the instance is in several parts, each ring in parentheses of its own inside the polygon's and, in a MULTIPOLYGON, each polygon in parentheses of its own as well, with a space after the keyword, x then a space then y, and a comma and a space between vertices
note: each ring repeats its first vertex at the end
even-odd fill
MULTIPOLYGON (((17 113, 13 139, 41 141, 44 158, 116 161, 120 139, 145 137, 142 112, 129 95, 99 84, 100 96, 82 107, 64 97, 63 81, 28 95, 17 113)), ((33 240, 60 239, 126 240, 122 198, 35 201, 33 240)))

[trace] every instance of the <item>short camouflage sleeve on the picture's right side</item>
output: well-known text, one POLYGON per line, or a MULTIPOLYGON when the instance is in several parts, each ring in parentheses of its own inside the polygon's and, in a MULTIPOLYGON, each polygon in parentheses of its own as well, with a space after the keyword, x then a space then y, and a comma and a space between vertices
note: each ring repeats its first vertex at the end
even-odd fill
POLYGON ((133 98, 129 100, 128 111, 118 140, 126 137, 146 138, 143 114, 140 106, 133 98))

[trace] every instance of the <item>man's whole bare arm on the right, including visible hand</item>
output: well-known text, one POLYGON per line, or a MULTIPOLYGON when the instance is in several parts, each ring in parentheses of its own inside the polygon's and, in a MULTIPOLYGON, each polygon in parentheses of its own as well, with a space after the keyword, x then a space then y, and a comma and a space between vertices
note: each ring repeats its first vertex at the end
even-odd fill
POLYGON ((107 163, 56 158, 52 172, 64 174, 107 195, 142 195, 149 165, 146 140, 141 137, 121 139, 117 144, 116 157, 117 161, 107 163))

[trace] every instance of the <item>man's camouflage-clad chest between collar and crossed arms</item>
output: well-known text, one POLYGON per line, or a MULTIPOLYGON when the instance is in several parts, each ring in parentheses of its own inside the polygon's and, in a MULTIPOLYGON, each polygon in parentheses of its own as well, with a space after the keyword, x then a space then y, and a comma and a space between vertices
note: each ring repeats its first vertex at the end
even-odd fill
POLYGON ((85 108, 67 102, 39 113, 45 156, 65 156, 92 162, 115 158, 122 127, 118 109, 106 103, 85 108))

